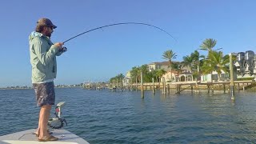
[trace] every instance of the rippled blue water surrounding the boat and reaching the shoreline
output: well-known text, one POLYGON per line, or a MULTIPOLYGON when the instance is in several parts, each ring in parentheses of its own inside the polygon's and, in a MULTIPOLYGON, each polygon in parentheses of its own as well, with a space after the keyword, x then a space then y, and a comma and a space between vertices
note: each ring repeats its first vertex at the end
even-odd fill
MULTIPOLYGON (((253 143, 256 95, 56 89, 66 130, 90 143, 253 143)), ((0 90, 0 135, 37 127, 34 90, 0 90)), ((53 116, 53 113, 52 113, 53 116)))

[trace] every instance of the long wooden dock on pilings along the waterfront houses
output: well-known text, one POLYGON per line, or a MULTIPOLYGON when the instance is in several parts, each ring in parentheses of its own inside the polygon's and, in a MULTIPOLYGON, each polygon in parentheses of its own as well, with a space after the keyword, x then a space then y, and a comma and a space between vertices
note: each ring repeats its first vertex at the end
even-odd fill
MULTIPOLYGON (((236 90, 246 90, 247 86, 254 83, 253 80, 248 81, 234 81, 234 87, 236 90)), ((223 90, 230 92, 230 82, 229 81, 218 81, 218 82, 143 82, 134 83, 129 86, 123 86, 122 83, 108 84, 105 86, 98 85, 94 90, 104 90, 108 89, 112 92, 122 92, 122 91, 138 91, 138 90, 162 90, 162 94, 170 94, 171 91, 180 94, 182 91, 190 90, 191 93, 200 93, 204 90, 208 93, 214 92, 214 90, 223 90)))

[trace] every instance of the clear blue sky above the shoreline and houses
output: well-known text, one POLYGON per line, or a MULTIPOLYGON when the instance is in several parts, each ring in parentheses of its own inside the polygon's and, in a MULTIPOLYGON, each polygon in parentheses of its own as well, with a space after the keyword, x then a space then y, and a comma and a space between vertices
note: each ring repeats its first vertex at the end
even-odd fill
MULTIPOLYGON (((255 0, 3 0, 0 5, 0 87, 31 86, 28 37, 39 18, 58 26, 52 42, 64 42, 86 30, 119 22, 158 26, 122 25, 94 30, 65 43, 58 57, 55 84, 107 81, 134 66, 163 62, 173 50, 182 61, 206 38, 217 40, 224 54, 256 47, 255 0)), ((205 51, 199 51, 206 54, 205 51)))

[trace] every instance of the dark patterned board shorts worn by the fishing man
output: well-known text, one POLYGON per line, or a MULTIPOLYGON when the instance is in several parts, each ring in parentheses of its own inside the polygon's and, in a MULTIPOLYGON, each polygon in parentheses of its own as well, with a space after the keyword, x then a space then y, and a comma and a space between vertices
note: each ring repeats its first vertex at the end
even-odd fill
POLYGON ((54 105, 54 82, 33 83, 33 87, 39 107, 43 105, 54 105))

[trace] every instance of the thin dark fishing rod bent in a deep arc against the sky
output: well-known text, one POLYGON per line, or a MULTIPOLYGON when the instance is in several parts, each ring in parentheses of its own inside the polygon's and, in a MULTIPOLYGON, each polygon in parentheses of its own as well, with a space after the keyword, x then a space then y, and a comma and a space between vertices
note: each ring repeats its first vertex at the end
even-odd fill
MULTIPOLYGON (((69 42, 71 39, 74 39, 74 38, 77 38, 79 37, 80 35, 82 34, 86 34, 86 33, 89 33, 91 31, 94 31, 94 30, 98 30, 98 29, 102 29, 104 27, 108 27, 108 26, 117 26, 117 25, 129 25, 129 24, 133 24, 133 25, 144 25, 144 26, 151 26, 151 27, 154 27, 158 30, 162 30, 163 32, 165 32, 166 34, 168 34, 171 38, 174 38, 171 34, 169 34, 166 30, 163 30, 161 29, 160 27, 158 26, 153 26, 153 25, 150 25, 150 24, 147 24, 147 23, 142 23, 142 22, 122 22, 122 23, 114 23, 114 24, 110 24, 110 25, 106 25, 106 26, 100 26, 100 27, 97 27, 97 28, 94 28, 92 30, 87 30, 81 34, 78 34, 70 39, 67 39, 66 41, 64 41, 63 43, 66 43, 66 42, 69 42)), ((175 42, 177 42, 177 40, 174 38, 175 42)))

